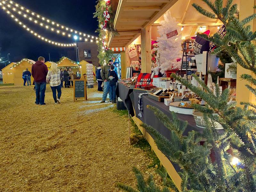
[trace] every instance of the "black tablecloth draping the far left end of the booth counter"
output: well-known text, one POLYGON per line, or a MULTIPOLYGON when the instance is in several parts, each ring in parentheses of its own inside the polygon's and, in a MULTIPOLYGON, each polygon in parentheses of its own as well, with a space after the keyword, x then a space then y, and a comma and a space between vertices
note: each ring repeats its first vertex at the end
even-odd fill
POLYGON ((131 116, 134 116, 132 101, 129 96, 132 93, 132 91, 133 89, 130 89, 129 87, 126 87, 121 83, 118 83, 116 87, 116 96, 120 97, 121 100, 123 100, 124 106, 127 108, 128 111, 130 111, 131 116))

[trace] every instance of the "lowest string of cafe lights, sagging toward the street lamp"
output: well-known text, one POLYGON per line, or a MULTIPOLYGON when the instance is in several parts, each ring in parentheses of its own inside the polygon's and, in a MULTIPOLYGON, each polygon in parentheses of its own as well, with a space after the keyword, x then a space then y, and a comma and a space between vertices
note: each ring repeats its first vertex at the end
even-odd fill
POLYGON ((65 44, 65 43, 59 43, 59 42, 55 42, 52 41, 50 39, 45 38, 44 36, 40 35, 39 33, 36 33, 35 31, 31 30, 30 28, 28 28, 24 23, 22 23, 18 18, 16 18, 13 14, 11 14, 11 12, 4 6, 2 5, 2 8, 4 11, 6 11, 6 13, 8 15, 10 15, 10 17, 17 22, 20 26, 22 26, 22 28, 24 28, 26 31, 30 32, 32 35, 38 37, 39 39, 41 39, 42 41, 45 41, 47 43, 56 45, 56 46, 61 46, 61 47, 71 47, 71 46, 75 46, 76 44, 65 44))

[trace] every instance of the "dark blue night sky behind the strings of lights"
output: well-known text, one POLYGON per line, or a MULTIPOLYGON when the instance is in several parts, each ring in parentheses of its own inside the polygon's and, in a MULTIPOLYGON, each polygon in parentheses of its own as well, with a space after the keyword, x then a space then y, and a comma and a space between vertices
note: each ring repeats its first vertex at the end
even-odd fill
MULTIPOLYGON (((98 28, 97 19, 93 18, 96 0, 15 0, 14 2, 61 25, 97 36, 95 33, 98 28)), ((31 21, 23 19, 22 15, 16 13, 15 16, 31 30, 50 40, 61 43, 75 42, 73 38, 63 38, 57 35, 56 32, 52 33, 49 29, 45 30, 31 21)), ((51 25, 49 24, 49 26, 51 25)), ((0 9, 0 47, 2 48, 0 51, 1 57, 7 58, 7 54, 10 53, 11 62, 20 61, 22 58, 36 61, 39 56, 43 56, 48 61, 49 53, 51 60, 56 62, 62 54, 67 56, 68 50, 74 50, 75 52, 74 48, 50 45, 33 36, 17 24, 10 15, 7 15, 2 8, 0 9)))

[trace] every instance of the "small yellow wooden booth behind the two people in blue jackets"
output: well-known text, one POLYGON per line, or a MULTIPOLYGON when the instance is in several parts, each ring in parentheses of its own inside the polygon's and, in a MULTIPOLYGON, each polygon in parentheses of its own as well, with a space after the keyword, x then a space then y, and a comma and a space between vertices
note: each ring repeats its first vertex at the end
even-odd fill
MULTIPOLYGON (((36 61, 30 59, 22 59, 21 61, 13 64, 11 69, 13 71, 13 81, 14 85, 23 85, 22 73, 23 70, 28 70, 31 72, 32 65, 35 64, 36 61)), ((34 78, 31 76, 31 83, 34 81, 34 78)))

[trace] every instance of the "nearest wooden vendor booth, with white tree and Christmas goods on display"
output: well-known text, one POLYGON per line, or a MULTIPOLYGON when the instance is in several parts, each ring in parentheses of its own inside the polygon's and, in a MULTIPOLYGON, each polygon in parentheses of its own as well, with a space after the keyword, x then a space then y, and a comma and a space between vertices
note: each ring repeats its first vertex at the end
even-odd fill
MULTIPOLYGON (((170 130, 147 108, 150 105, 160 109, 170 118, 170 111, 174 111, 181 121, 188 121, 185 134, 192 130, 198 132, 204 130, 205 125, 202 122, 200 125, 196 121, 198 114, 192 115, 193 109, 189 108, 189 104, 199 102, 198 98, 190 97, 186 86, 179 82, 174 83, 170 74, 181 75, 196 85, 195 80, 191 78, 191 74, 194 73, 214 90, 213 77, 208 76, 207 71, 210 70, 215 74, 218 64, 225 67, 230 63, 222 63, 216 55, 209 54, 212 48, 211 42, 205 42, 199 39, 199 36, 196 37, 197 33, 221 34, 225 29, 220 20, 206 18, 197 12, 192 7, 193 3, 209 10, 200 0, 189 0, 185 3, 183 0, 119 1, 116 10, 113 11, 116 12, 114 28, 118 34, 108 34, 108 48, 113 51, 120 50, 121 54, 121 73, 124 80, 118 84, 117 96, 123 100, 132 119, 178 187, 181 184, 178 174, 179 166, 173 164, 157 148, 154 138, 141 127, 141 124, 146 123, 152 126, 167 139, 171 139, 170 130), (139 77, 136 78, 137 76, 139 77), (165 91, 168 94, 165 94, 165 91), (179 100, 184 97, 188 97, 187 103, 179 100), (141 103, 138 103, 140 100, 141 103), (142 105, 141 108, 140 105, 142 105)), ((233 3, 240 6, 240 19, 253 14, 253 12, 246 12, 249 6, 254 6, 253 3, 245 5, 240 0, 235 0, 233 3)), ((248 73, 244 68, 238 68, 237 76, 248 73)), ((254 96, 244 86, 245 81, 239 81, 236 84, 236 77, 229 73, 229 76, 218 77, 217 83, 219 82, 227 82, 225 85, 221 84, 222 90, 231 88, 230 101, 236 100, 237 103, 242 100, 253 101, 254 96), (242 98, 241 94, 247 95, 242 98)), ((220 132, 222 131, 220 128, 220 132)))

